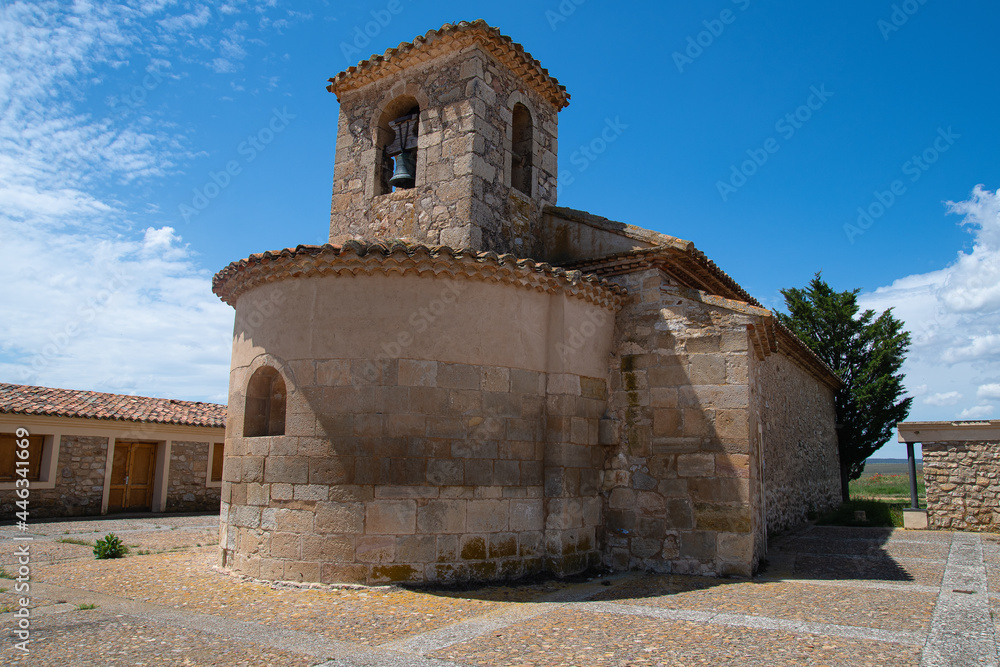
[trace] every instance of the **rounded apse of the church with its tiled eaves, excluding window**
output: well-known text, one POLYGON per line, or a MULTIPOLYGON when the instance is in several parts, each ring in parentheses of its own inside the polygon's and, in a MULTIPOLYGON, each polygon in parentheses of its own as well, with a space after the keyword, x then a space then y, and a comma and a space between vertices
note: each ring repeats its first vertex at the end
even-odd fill
POLYGON ((510 260, 351 242, 253 258, 217 280, 237 304, 225 566, 382 583, 600 562, 600 420, 621 290, 510 260), (374 330, 287 335, 337 330, 362 296, 374 330), (272 304, 267 323, 253 317, 260 303, 272 304), (604 324, 588 346, 562 351, 563 327, 593 321, 604 324), (551 340, 547 322, 560 323, 551 340), (284 433, 246 437, 243 388, 262 366, 284 378, 284 433))

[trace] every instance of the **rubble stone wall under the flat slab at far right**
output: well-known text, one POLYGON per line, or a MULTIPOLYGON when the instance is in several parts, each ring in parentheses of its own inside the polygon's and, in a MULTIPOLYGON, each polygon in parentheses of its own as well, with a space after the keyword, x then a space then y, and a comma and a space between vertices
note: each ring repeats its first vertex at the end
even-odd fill
POLYGON ((930 528, 1000 532, 1000 442, 921 444, 930 528))

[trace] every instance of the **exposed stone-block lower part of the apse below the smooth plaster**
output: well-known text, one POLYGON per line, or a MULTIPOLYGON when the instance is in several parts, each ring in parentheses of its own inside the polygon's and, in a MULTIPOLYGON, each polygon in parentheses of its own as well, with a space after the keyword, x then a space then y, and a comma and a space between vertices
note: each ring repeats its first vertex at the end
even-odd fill
MULTIPOLYGON (((598 560, 600 503, 585 496, 603 379, 415 359, 284 370, 286 435, 227 440, 225 567, 447 582, 598 560)), ((230 423, 238 412, 231 401, 230 423)))

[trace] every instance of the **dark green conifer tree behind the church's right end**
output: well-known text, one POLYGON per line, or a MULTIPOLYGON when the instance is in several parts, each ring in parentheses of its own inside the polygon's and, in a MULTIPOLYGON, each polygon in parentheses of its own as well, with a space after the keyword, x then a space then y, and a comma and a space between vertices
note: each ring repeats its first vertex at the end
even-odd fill
POLYGON ((848 482, 861 476, 865 459, 889 441, 913 402, 902 398, 899 372, 910 334, 891 308, 881 315, 873 310, 859 313, 860 291, 835 292, 817 273, 806 289, 781 290, 788 314, 777 314, 778 321, 844 381, 835 401, 845 501, 850 496, 848 482))

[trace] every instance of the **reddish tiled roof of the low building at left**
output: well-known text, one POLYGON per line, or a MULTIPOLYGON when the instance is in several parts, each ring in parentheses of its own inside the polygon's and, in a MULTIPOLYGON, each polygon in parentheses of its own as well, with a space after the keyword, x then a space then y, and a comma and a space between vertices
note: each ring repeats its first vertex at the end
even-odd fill
POLYGON ((224 427, 226 406, 0 382, 0 413, 224 427))

